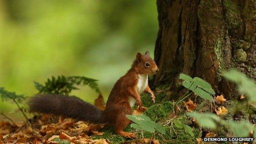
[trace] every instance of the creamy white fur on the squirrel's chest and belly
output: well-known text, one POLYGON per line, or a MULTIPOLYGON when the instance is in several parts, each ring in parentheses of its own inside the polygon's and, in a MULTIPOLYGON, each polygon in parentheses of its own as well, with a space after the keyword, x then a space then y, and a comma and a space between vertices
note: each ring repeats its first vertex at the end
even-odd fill
MULTIPOLYGON (((148 80, 147 75, 138 74, 138 83, 137 83, 138 94, 142 93, 145 90, 147 85, 147 80, 148 80)), ((130 107, 133 107, 136 102, 136 99, 129 96, 128 101, 129 101, 130 107)))

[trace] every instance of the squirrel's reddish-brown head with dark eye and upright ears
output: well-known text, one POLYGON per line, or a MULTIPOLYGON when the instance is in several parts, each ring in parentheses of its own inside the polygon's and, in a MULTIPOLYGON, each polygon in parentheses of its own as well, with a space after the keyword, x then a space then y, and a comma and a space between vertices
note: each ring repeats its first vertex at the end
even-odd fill
POLYGON ((137 53, 136 59, 134 60, 132 67, 136 69, 136 72, 140 74, 154 74, 159 71, 154 60, 149 56, 149 52, 145 54, 137 53))

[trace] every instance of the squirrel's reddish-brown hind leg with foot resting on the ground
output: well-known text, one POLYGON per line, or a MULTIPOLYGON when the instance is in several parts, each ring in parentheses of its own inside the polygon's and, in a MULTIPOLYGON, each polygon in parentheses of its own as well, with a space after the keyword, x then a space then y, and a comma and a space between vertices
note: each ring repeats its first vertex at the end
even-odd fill
POLYGON ((131 132, 125 132, 123 129, 131 122, 125 115, 132 114, 132 110, 130 108, 129 103, 125 103, 122 105, 122 111, 119 111, 115 120, 115 131, 116 133, 128 137, 128 138, 135 138, 136 134, 131 132))

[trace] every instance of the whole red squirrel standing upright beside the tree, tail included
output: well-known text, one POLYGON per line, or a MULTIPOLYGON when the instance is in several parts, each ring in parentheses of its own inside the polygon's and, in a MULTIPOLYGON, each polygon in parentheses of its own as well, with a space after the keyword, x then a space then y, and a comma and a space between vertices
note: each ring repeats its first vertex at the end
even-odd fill
POLYGON ((148 86, 148 74, 154 74, 158 70, 148 51, 145 54, 138 52, 131 68, 114 84, 103 111, 78 97, 60 94, 32 96, 28 100, 29 111, 63 115, 91 123, 112 124, 116 133, 135 138, 134 133, 123 131, 131 122, 125 115, 132 114, 135 102, 140 110, 144 110, 139 95, 142 92, 150 93, 154 102, 154 93, 148 86))

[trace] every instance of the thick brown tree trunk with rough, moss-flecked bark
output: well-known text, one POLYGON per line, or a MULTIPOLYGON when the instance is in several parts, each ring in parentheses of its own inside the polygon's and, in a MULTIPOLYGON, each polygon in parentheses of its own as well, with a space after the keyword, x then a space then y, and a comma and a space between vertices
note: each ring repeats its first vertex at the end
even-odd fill
POLYGON ((231 98, 236 91, 223 71, 237 68, 256 79, 256 0, 157 0, 157 10, 154 85, 175 88, 185 73, 231 98))

